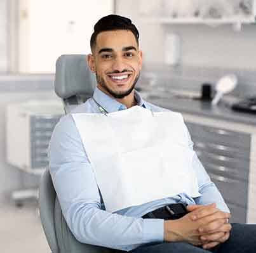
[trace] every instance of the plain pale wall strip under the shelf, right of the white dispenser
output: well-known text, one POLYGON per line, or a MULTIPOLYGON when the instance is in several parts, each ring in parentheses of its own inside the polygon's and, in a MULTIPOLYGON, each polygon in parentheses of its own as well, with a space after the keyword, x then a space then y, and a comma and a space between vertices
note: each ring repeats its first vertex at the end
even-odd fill
POLYGON ((166 25, 165 32, 182 38, 182 65, 256 70, 256 25, 166 25))

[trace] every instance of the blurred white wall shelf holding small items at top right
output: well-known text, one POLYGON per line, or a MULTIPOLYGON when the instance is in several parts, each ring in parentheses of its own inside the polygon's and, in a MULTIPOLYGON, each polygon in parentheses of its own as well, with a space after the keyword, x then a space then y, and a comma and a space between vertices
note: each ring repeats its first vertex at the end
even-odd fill
MULTIPOLYGON (((231 6, 225 6, 225 0, 223 0, 223 6, 221 9, 221 4, 219 2, 211 4, 201 4, 201 6, 196 7, 198 0, 194 4, 187 4, 186 2, 182 5, 177 4, 176 1, 170 4, 168 0, 162 0, 162 6, 152 6, 151 8, 145 9, 145 5, 140 6, 140 18, 142 22, 147 22, 151 24, 208 24, 208 25, 222 25, 222 24, 247 24, 255 23, 256 21, 256 0, 250 0, 251 6, 247 6, 250 10, 245 10, 245 6, 234 6, 240 8, 241 10, 235 10, 231 12, 229 10, 232 7, 232 0, 229 0, 231 6), (219 5, 218 5, 219 3, 219 5), (215 8, 216 4, 216 8, 215 8), (204 10, 205 8, 205 10, 204 10), (204 10, 201 12, 201 10, 204 10), (198 16, 194 16, 198 11, 198 16), (168 14, 167 14, 168 13, 168 14), (215 15, 215 16, 214 16, 215 15), (219 17, 217 17, 219 16, 219 17)), ((192 0, 191 0, 192 1, 192 0)), ((241 4, 241 3, 240 3, 241 4)), ((244 3, 246 5, 246 3, 244 3)), ((249 4, 249 3, 247 3, 249 4)))

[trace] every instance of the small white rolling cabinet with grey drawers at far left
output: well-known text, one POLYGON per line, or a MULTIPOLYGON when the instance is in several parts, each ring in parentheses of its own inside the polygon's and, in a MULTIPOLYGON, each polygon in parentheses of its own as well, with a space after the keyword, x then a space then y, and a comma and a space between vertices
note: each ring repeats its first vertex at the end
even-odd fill
MULTIPOLYGON (((6 107, 6 162, 29 174, 41 176, 48 167, 51 133, 63 114, 60 101, 10 103, 6 107)), ((22 206, 29 198, 38 198, 38 188, 25 187, 11 193, 17 206, 22 206)))

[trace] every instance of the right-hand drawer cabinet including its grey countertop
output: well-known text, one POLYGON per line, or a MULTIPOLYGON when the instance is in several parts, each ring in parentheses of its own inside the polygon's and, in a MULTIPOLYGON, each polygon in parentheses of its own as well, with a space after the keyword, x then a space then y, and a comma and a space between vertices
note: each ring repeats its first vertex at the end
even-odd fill
POLYGON ((256 119, 253 115, 177 98, 150 101, 181 112, 194 150, 217 185, 232 223, 256 223, 256 119))

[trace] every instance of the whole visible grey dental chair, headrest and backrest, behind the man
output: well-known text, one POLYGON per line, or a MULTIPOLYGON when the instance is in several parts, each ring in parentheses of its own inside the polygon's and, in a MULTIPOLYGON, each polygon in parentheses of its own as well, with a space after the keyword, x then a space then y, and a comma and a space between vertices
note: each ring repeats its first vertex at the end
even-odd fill
MULTIPOLYGON (((93 94, 96 81, 86 55, 62 55, 56 63, 55 93, 64 101, 65 113, 93 94)), ((114 250, 80 243, 65 222, 48 169, 39 187, 39 210, 43 230, 52 253, 111 253, 114 250)))

